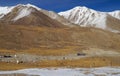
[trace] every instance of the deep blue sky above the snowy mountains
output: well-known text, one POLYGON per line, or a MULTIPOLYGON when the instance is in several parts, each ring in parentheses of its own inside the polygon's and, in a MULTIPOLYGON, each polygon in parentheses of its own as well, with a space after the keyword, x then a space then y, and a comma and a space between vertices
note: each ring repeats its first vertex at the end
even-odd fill
POLYGON ((120 10, 120 0, 0 0, 0 6, 28 3, 55 12, 65 11, 76 6, 86 6, 105 12, 120 10))

